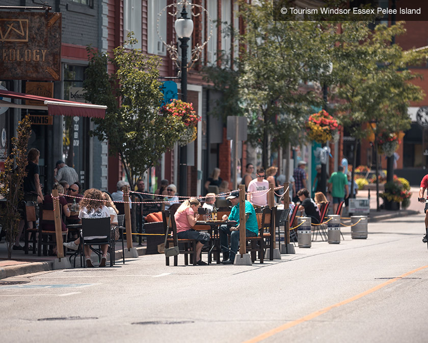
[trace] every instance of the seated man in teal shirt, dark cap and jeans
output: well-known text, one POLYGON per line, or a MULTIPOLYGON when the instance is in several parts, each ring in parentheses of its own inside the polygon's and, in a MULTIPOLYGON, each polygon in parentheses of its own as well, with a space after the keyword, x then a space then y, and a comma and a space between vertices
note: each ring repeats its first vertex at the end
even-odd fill
MULTIPOLYGON (((229 217, 223 215, 223 220, 235 220, 236 226, 222 225, 220 227, 220 245, 223 252, 223 264, 233 264, 235 255, 238 252, 239 243, 239 192, 234 191, 226 198, 232 203, 232 210, 229 217), (227 235, 230 235, 230 250, 228 248, 227 235)), ((256 212, 253 205, 245 201, 245 232, 247 237, 255 237, 258 235, 258 225, 256 212)))

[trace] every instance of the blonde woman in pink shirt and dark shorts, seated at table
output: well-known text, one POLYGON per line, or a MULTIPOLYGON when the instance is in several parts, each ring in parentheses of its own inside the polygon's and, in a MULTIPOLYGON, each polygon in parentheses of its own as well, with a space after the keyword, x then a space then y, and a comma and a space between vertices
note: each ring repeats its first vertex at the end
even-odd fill
POLYGON ((196 239, 196 264, 205 265, 201 260, 202 247, 209 241, 209 233, 199 232, 193 229, 199 218, 198 208, 201 203, 196 199, 185 200, 174 214, 177 225, 177 237, 179 239, 196 239))

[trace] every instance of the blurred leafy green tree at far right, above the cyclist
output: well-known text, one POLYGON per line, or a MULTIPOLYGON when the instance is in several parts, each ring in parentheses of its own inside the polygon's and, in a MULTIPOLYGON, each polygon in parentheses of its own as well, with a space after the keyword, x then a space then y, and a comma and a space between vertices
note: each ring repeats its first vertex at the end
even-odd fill
POLYGON ((381 24, 374 30, 367 22, 342 23, 340 44, 333 52, 337 116, 356 138, 356 145, 370 133, 377 137, 410 128, 408 106, 421 100, 423 92, 410 82, 418 75, 408 67, 420 65, 426 55, 404 52, 399 45, 391 44, 393 37, 404 32, 403 22, 391 27, 381 24))

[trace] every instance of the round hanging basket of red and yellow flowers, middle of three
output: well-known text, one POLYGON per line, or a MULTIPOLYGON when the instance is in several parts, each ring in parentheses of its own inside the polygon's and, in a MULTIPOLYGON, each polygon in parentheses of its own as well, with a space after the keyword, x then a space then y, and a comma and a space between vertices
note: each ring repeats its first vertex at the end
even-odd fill
POLYGON ((308 138, 318 143, 339 138, 339 124, 325 110, 312 114, 305 123, 308 138))

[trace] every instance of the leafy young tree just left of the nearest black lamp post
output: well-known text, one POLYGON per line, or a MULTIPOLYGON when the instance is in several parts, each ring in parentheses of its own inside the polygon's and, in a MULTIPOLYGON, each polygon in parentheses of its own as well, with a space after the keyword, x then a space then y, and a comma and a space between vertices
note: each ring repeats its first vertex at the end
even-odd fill
MULTIPOLYGON (((137 41, 132 34, 128 39, 130 46, 137 41)), ((86 100, 108 107, 105 118, 94 120, 97 126, 92 134, 109 141, 110 153, 119 155, 133 189, 144 171, 173 148, 183 123, 176 116, 159 114, 163 94, 158 57, 124 46, 115 48, 112 57, 91 47, 87 50, 86 100), (116 70, 113 75, 107 71, 109 62, 116 70)))

